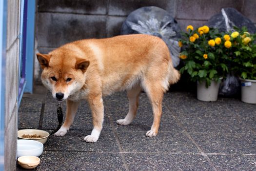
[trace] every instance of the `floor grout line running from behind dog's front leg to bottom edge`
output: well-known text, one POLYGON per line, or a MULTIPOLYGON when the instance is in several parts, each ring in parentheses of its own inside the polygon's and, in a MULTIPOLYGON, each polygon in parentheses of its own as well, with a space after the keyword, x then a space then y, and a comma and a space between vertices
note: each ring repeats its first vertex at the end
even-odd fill
MULTIPOLYGON (((104 101, 104 103, 107 104, 106 101, 104 101)), ((119 153, 120 153, 120 155, 121 155, 121 158, 122 158, 122 161, 123 161, 123 164, 124 164, 124 168, 125 168, 126 171, 129 171, 128 164, 127 164, 127 162, 126 162, 126 160, 125 160, 123 148, 122 148, 122 145, 121 145, 120 140, 119 140, 119 138, 118 138, 118 132, 117 132, 117 130, 115 129, 115 126, 114 126, 114 124, 113 124, 113 118, 112 118, 112 116, 111 116, 111 114, 110 114, 110 111, 108 110, 107 107, 106 107, 106 113, 109 113, 108 117, 109 117, 110 125, 111 125, 111 128, 112 128, 113 132, 114 132, 115 139, 116 139, 117 144, 118 144, 118 149, 119 149, 119 153)))

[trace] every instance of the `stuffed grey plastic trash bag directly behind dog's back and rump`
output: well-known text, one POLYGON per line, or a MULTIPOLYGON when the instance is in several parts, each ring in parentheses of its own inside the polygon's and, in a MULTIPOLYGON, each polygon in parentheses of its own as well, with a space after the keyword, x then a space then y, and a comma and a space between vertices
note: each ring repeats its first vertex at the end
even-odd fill
POLYGON ((156 6, 141 7, 131 12, 121 28, 121 35, 140 33, 161 38, 170 50, 174 67, 179 64, 179 32, 177 21, 167 11, 156 6))

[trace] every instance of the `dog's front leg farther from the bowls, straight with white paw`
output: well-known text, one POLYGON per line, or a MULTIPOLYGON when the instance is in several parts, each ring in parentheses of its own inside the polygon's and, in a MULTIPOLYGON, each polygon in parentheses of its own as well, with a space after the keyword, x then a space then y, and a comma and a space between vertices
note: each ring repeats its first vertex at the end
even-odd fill
POLYGON ((92 110, 93 130, 91 135, 87 135, 86 137, 84 137, 84 140, 86 142, 93 143, 98 140, 104 119, 104 107, 101 94, 90 95, 88 98, 88 103, 92 110))

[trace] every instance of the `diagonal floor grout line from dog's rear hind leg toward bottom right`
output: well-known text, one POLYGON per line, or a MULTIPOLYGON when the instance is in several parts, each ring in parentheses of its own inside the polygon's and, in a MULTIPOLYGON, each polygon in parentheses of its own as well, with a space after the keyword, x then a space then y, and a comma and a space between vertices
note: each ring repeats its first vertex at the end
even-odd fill
POLYGON ((210 158, 207 156, 207 154, 198 146, 198 144, 196 143, 196 141, 192 138, 192 136, 189 134, 189 132, 183 127, 183 125, 179 122, 179 120, 177 119, 176 115, 174 114, 174 112, 169 108, 168 105, 165 104, 165 102, 163 102, 164 106, 170 111, 170 113, 173 115, 174 119, 177 121, 177 124, 184 130, 185 135, 187 135, 187 137, 192 141, 192 143, 197 147, 197 149, 201 152, 201 155, 203 155, 205 157, 205 159, 210 163, 210 165, 213 167, 213 169, 215 171, 218 171, 217 168, 215 167, 215 165, 212 163, 212 161, 210 160, 210 158))

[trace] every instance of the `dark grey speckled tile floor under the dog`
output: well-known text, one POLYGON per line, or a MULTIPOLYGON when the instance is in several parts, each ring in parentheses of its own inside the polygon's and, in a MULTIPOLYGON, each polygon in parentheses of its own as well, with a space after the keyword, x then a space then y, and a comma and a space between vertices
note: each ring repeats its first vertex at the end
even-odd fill
MULTIPOLYGON (((57 127, 57 102, 42 92, 24 95, 19 129, 50 132, 57 127)), ((116 120, 128 111, 126 93, 105 97, 105 120, 96 143, 83 141, 93 127, 90 109, 82 102, 70 131, 44 144, 35 170, 256 171, 256 105, 232 98, 201 102, 195 94, 168 92, 158 136, 149 138, 145 133, 151 128, 152 109, 145 93, 139 101, 132 124, 118 126, 116 120)))

